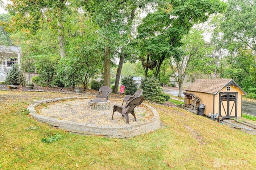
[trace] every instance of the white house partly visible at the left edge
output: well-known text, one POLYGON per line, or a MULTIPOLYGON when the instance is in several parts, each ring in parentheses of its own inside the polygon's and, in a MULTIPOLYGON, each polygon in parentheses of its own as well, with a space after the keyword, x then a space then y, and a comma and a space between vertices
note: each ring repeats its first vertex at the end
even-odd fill
POLYGON ((5 80, 12 64, 20 65, 21 47, 0 45, 0 82, 5 80))

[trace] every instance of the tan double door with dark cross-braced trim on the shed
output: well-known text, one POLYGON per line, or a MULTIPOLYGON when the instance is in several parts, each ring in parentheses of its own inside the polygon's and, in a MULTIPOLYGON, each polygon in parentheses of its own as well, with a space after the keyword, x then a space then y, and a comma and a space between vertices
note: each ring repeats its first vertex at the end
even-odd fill
POLYGON ((224 118, 237 117, 237 94, 220 92, 219 113, 224 118))

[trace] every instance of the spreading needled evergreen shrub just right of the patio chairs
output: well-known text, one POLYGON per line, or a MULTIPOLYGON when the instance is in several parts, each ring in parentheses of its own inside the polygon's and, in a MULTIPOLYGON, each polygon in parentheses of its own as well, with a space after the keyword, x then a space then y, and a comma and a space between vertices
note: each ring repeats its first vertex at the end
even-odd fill
POLYGON ((170 98, 168 94, 162 93, 160 83, 156 78, 143 79, 140 87, 143 89, 143 96, 150 102, 164 103, 170 98))

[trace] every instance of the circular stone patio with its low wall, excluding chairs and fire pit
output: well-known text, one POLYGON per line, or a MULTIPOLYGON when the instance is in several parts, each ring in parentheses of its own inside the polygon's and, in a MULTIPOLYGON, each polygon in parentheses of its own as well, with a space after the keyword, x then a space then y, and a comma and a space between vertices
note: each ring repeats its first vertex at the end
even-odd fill
POLYGON ((100 111, 89 109, 88 102, 93 99, 68 97, 36 100, 27 109, 30 111, 30 115, 40 122, 86 135, 125 138, 149 133, 160 128, 158 112, 144 102, 134 108, 137 121, 129 114, 130 123, 126 124, 125 118, 117 111, 111 120, 114 104, 122 105, 122 100, 110 99, 110 109, 100 111), (42 103, 48 104, 40 105, 42 103))

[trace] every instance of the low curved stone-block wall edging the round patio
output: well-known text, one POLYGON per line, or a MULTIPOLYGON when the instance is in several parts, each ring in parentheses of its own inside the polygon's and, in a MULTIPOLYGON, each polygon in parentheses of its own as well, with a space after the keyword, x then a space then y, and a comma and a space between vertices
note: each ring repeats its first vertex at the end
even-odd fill
POLYGON ((145 121, 138 121, 126 125, 92 125, 86 123, 76 123, 72 121, 65 121, 54 119, 50 117, 46 117, 44 115, 39 115, 36 113, 34 107, 38 106, 42 103, 56 102, 58 100, 64 99, 79 99, 79 98, 87 98, 87 97, 66 97, 66 98, 56 98, 56 99, 47 99, 47 100, 37 100, 34 101, 34 104, 31 104, 27 107, 27 110, 30 111, 30 115, 32 118, 52 125, 54 127, 58 127, 60 129, 65 129, 69 132, 81 133, 84 135, 102 135, 110 138, 127 138, 133 137, 137 135, 141 135, 143 133, 149 133, 155 131, 160 128, 160 118, 158 112, 151 106, 147 104, 143 104, 148 107, 154 116, 151 119, 145 121))

